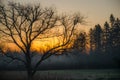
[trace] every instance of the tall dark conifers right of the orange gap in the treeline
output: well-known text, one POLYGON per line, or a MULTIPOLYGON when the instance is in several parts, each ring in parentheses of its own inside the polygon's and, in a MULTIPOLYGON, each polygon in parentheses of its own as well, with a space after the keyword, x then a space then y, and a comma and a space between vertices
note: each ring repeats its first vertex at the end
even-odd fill
POLYGON ((104 23, 103 28, 97 24, 90 29, 90 51, 99 53, 120 52, 120 20, 110 15, 110 23, 104 23))

